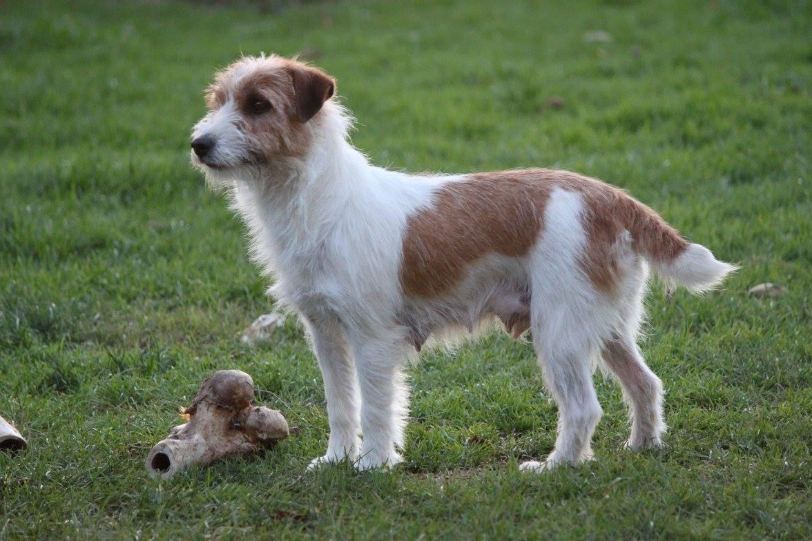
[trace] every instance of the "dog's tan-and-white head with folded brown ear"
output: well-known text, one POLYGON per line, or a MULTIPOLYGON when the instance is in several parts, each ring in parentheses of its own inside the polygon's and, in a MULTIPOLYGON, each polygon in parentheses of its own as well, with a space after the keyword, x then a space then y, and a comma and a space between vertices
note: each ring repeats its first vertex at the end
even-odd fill
POLYGON ((334 93, 335 81, 303 62, 241 58, 206 92, 209 112, 192 131, 192 163, 220 177, 246 165, 304 157, 313 117, 334 93))

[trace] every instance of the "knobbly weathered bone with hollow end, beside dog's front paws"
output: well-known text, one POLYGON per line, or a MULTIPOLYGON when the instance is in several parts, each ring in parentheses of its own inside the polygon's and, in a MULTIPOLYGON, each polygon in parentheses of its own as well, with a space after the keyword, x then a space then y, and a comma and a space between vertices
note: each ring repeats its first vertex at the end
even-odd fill
POLYGON ((253 391, 253 380, 243 371, 214 372, 186 408, 189 422, 173 428, 150 451, 149 474, 168 478, 192 464, 257 453, 285 439, 287 421, 277 410, 254 405, 253 391))

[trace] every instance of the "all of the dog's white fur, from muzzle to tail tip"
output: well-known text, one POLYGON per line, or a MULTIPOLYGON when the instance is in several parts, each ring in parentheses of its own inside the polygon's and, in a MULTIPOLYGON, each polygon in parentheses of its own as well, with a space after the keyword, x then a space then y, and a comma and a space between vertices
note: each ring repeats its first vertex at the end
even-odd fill
MULTIPOLYGON (((408 412, 403 368, 412 333, 473 331, 524 292, 531 294, 533 344, 560 419, 550 457, 523 469, 591 457, 590 440, 602 413, 591 376, 596 363, 623 385, 633 419, 628 445, 659 445, 665 430, 662 384, 635 344, 648 267, 630 239, 616 247, 619 293, 599 292, 578 265, 586 246, 581 195, 558 189, 529 255, 488 255, 450 294, 408 297, 399 274, 408 217, 429 207, 444 184, 462 177, 408 176, 370 165, 348 142, 350 123, 340 105, 327 101, 307 123, 313 140, 302 159, 226 170, 197 164, 207 178, 226 185, 232 207, 250 230, 254 258, 275 277, 270 292, 309 330, 330 421, 326 453, 313 466, 344 457, 361 470, 400 462, 408 412)), ((216 136, 223 159, 239 157, 244 135, 238 124, 232 107, 201 122, 195 135, 216 136)), ((701 289, 731 270, 725 265, 692 245, 659 272, 701 289)))

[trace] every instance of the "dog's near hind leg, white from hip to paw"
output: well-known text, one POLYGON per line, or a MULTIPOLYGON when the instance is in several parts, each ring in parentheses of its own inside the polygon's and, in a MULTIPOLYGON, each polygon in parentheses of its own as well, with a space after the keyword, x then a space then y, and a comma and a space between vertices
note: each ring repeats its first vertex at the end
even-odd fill
POLYGON ((587 243, 582 210, 580 195, 554 191, 545 230, 529 258, 530 330, 559 420, 546 462, 525 462, 521 470, 538 472, 591 458, 592 434, 603 414, 592 371, 616 308, 577 271, 587 243))

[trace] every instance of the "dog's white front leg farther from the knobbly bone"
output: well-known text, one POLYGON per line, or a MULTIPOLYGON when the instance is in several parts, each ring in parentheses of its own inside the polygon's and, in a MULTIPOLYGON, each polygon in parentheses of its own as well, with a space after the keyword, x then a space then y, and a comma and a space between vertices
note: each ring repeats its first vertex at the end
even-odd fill
POLYGON ((361 432, 364 444, 359 471, 391 467, 403 461, 408 388, 402 371, 405 350, 395 337, 351 338, 361 385, 361 432))

